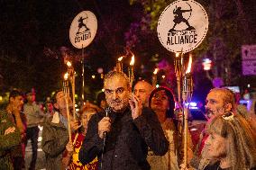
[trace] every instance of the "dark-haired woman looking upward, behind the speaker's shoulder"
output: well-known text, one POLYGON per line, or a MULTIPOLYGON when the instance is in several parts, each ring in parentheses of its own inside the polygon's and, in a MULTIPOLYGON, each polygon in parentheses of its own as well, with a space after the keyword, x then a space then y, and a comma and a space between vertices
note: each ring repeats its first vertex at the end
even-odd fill
MULTIPOLYGON (((155 156, 151 151, 148 153, 148 161, 151 170, 176 170, 181 163, 180 151, 183 151, 182 134, 178 131, 178 121, 175 119, 175 98, 168 87, 161 86, 151 92, 149 106, 158 116, 165 137, 169 140, 169 151, 165 156, 155 156)), ((189 140, 189 148, 192 141, 189 140)), ((189 149, 190 150, 190 149, 189 149)), ((190 150, 192 155, 192 150, 190 150)))

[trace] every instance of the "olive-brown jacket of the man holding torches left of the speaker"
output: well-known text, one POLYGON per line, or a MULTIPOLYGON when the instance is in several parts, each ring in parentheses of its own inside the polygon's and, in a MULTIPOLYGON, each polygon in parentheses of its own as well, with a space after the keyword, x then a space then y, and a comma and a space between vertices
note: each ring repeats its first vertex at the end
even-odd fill
MULTIPOLYGON (((53 117, 56 118, 56 114, 59 113, 54 113, 53 117)), ((50 117, 43 125, 41 148, 45 153, 46 169, 60 170, 62 153, 69 142, 69 132, 61 121, 56 123, 52 120, 50 117)))

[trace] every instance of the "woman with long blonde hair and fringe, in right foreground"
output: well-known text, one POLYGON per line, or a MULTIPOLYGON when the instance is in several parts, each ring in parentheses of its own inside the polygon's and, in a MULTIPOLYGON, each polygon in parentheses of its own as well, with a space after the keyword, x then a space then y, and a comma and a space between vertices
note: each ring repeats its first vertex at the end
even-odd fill
POLYGON ((241 115, 226 112, 206 125, 206 156, 215 160, 205 170, 256 169, 256 134, 241 115))

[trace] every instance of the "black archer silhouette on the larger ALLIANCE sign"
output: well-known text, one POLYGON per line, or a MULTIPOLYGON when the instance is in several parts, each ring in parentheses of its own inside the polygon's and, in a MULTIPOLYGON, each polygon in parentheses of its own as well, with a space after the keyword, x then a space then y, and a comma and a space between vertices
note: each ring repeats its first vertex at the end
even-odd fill
POLYGON ((188 19, 185 19, 182 15, 182 13, 186 13, 186 12, 192 12, 192 9, 190 10, 182 10, 181 7, 178 6, 178 8, 174 9, 173 10, 173 14, 175 14, 174 16, 174 26, 172 27, 172 29, 169 30, 170 31, 176 31, 175 30, 175 27, 177 24, 181 23, 181 22, 185 22, 187 24, 187 29, 186 31, 191 31, 191 30, 196 30, 194 27, 192 27, 188 22, 187 20, 188 19))

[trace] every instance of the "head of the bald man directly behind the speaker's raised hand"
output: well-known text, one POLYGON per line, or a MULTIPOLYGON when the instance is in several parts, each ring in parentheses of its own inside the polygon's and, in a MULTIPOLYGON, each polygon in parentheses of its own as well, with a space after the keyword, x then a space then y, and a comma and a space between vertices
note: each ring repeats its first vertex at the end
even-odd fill
POLYGON ((133 94, 142 101, 142 106, 149 107, 149 96, 152 90, 153 86, 151 84, 141 80, 134 85, 133 94))

